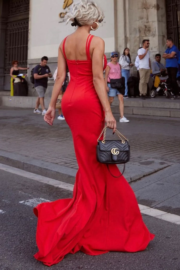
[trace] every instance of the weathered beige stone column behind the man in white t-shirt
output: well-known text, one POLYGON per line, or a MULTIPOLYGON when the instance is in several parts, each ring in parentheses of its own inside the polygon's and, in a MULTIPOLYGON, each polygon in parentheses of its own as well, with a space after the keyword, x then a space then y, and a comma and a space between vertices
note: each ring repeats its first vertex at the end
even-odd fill
POLYGON ((166 43, 165 0, 115 0, 117 16, 116 48, 123 53, 130 48, 132 61, 143 39, 150 39, 151 62, 156 53, 163 53, 166 43))

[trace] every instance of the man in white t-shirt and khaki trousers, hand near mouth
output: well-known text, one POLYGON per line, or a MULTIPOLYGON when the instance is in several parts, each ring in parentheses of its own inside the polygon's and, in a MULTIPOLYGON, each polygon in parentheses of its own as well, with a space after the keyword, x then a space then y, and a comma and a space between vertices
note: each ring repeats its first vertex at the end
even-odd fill
POLYGON ((150 52, 149 52, 149 39, 144 39, 142 41, 143 47, 138 50, 139 56, 139 91, 141 99, 148 98, 147 96, 147 84, 150 79, 151 74, 151 62, 150 62, 150 52))

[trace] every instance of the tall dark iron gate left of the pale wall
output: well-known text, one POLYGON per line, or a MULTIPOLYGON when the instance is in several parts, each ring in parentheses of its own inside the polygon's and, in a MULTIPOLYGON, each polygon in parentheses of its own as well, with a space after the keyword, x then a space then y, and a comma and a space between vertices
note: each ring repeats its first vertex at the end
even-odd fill
POLYGON ((12 60, 19 66, 27 66, 29 0, 9 0, 6 28, 4 73, 8 74, 12 60))

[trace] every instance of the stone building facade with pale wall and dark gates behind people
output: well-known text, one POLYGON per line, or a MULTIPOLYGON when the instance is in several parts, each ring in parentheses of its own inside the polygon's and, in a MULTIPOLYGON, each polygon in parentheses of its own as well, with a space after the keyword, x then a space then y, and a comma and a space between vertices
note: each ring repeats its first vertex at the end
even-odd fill
MULTIPOLYGON (((14 59, 31 69, 46 55, 50 69, 55 71, 59 43, 74 31, 70 23, 64 22, 65 8, 77 1, 0 0, 0 90, 9 90, 8 72, 14 59)), ((156 53, 164 52, 167 35, 179 46, 179 0, 95 1, 104 10, 105 19, 91 33, 104 39, 108 58, 110 52, 116 50, 122 54, 128 47, 134 61, 144 38, 150 39, 151 61, 156 53)), ((53 80, 49 80, 48 96, 52 87, 53 80)), ((29 95, 35 95, 31 85, 29 89, 29 95)))

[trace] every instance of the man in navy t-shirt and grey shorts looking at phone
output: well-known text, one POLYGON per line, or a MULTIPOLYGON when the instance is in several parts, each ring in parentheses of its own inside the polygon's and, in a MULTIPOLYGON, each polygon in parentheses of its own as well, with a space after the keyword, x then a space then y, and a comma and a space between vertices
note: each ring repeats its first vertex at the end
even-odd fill
POLYGON ((44 95, 46 93, 47 89, 47 81, 48 77, 52 78, 52 73, 47 66, 48 58, 47 56, 43 56, 41 58, 40 65, 35 66, 34 68, 34 87, 36 89, 36 92, 38 93, 38 98, 36 100, 36 107, 34 109, 34 113, 41 113, 39 111, 39 104, 42 108, 42 115, 45 115, 46 110, 44 107, 44 95))

